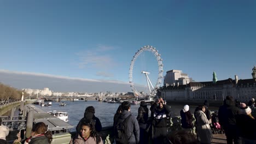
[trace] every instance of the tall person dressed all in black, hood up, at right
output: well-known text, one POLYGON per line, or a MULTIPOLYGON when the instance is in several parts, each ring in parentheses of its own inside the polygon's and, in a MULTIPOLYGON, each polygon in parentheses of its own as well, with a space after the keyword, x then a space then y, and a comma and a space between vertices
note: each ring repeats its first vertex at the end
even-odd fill
POLYGON ((219 107, 218 116, 219 124, 225 131, 226 142, 232 144, 241 143, 241 137, 236 125, 236 116, 240 113, 238 107, 235 106, 235 102, 232 96, 226 96, 223 101, 223 105, 219 107))

